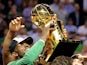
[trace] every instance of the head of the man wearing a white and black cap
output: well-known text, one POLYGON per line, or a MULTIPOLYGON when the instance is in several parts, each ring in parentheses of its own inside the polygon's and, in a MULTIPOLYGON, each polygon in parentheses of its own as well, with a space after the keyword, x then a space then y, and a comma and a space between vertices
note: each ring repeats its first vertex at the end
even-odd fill
POLYGON ((23 57, 25 52, 31 47, 33 39, 28 36, 17 36, 15 37, 9 46, 11 53, 15 53, 19 57, 23 57))

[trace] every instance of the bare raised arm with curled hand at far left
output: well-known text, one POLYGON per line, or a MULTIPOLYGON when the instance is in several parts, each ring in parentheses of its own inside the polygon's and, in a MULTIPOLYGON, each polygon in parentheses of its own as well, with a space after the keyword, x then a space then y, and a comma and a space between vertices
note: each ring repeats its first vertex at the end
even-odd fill
POLYGON ((11 40, 15 36, 15 32, 19 31, 22 28, 20 19, 21 18, 18 17, 17 19, 12 20, 9 24, 9 31, 3 43, 3 65, 7 65, 7 63, 13 59, 11 53, 9 52, 9 45, 11 40))

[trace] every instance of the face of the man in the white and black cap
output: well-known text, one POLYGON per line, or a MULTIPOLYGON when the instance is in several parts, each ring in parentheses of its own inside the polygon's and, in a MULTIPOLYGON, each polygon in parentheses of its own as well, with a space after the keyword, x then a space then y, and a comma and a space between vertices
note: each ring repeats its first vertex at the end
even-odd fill
POLYGON ((30 48, 30 45, 27 43, 18 44, 16 46, 15 51, 18 53, 18 56, 23 57, 29 48, 30 48))

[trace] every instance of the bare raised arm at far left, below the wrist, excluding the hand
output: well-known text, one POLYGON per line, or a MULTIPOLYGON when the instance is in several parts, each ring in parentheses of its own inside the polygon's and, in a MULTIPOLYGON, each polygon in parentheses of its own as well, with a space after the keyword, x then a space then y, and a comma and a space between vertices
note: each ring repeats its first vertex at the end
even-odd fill
POLYGON ((3 43, 3 65, 6 65, 6 63, 9 61, 8 60, 8 55, 9 55, 9 44, 10 41, 13 39, 14 33, 11 32, 10 30, 7 33, 7 36, 5 37, 4 43, 3 43))

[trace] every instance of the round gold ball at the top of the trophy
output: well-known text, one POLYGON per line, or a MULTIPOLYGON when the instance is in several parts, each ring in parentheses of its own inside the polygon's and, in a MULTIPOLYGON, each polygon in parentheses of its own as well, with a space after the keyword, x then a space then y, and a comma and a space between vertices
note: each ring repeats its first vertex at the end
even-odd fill
POLYGON ((48 24, 54 16, 53 10, 46 4, 36 5, 31 12, 32 22, 41 27, 48 24))

